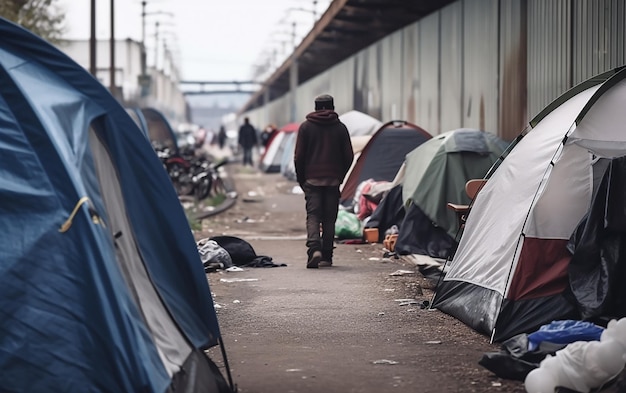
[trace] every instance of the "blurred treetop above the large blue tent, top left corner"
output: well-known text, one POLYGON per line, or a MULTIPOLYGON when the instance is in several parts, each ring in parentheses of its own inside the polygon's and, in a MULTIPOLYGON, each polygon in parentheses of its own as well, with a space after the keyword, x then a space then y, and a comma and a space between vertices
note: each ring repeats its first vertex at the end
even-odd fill
POLYGON ((0 0, 0 16, 11 20, 52 43, 64 33, 65 15, 53 4, 56 0, 0 0))

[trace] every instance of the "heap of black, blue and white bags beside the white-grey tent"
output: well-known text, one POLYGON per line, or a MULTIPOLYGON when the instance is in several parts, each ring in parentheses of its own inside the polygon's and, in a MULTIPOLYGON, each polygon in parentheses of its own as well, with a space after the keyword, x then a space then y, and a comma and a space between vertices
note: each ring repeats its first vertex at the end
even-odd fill
POLYGON ((479 364, 500 378, 523 381, 528 393, 605 391, 623 382, 617 379, 626 365, 626 318, 612 320, 606 328, 553 321, 506 340, 500 352, 484 354, 479 364))

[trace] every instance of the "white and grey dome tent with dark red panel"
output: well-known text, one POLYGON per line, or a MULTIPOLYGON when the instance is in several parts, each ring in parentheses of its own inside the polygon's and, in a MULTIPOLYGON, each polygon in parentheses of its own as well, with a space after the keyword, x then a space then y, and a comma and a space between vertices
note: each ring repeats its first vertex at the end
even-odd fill
POLYGON ((432 307, 500 342, 576 318, 567 244, 589 211, 593 163, 626 156, 626 69, 571 89, 531 122, 474 201, 432 307))

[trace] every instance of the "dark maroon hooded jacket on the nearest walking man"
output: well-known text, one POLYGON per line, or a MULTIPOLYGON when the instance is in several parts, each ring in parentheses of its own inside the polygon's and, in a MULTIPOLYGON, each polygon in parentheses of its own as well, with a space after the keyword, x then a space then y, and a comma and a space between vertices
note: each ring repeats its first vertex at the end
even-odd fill
POLYGON ((335 111, 322 109, 306 116, 298 130, 294 154, 299 184, 325 178, 341 183, 353 158, 350 134, 335 111))

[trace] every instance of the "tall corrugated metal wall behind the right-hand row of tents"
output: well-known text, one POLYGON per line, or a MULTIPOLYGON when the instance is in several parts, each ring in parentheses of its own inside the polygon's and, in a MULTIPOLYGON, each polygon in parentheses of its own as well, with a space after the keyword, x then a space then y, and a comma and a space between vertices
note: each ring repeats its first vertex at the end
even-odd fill
MULTIPOLYGON (((625 3, 459 0, 299 86, 297 120, 313 97, 330 93, 339 113, 512 140, 566 90, 626 64, 625 3)), ((284 124, 290 104, 283 97, 248 115, 284 124)))

